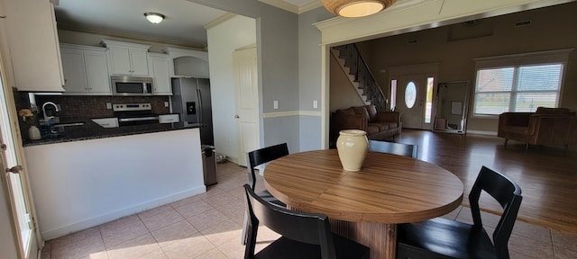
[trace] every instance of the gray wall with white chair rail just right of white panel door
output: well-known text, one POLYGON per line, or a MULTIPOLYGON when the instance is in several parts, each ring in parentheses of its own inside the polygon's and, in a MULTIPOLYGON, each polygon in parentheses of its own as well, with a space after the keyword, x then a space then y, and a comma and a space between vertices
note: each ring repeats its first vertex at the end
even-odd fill
MULTIPOLYGON (((188 1, 255 18, 260 113, 298 111, 298 14, 253 0, 188 1), (273 101, 279 101, 279 109, 273 109, 273 101)), ((289 151, 300 150, 298 116, 264 118, 261 132, 261 143, 265 147, 288 142, 289 151)))

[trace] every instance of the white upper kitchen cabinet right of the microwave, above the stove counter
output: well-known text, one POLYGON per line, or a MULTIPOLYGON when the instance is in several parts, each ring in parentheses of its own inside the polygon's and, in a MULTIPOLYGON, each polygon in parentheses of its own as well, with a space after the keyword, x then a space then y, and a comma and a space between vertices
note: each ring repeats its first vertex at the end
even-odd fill
POLYGON ((170 77, 174 75, 172 58, 166 54, 149 53, 150 75, 153 82, 155 95, 172 95, 170 77))

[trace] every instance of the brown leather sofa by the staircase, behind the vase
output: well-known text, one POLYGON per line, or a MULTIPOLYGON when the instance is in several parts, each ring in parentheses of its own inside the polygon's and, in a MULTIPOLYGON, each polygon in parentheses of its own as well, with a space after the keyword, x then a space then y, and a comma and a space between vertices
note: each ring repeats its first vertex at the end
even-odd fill
POLYGON ((367 138, 385 140, 400 134, 398 112, 377 112, 374 105, 337 110, 331 115, 330 139, 334 143, 343 129, 362 129, 367 138))

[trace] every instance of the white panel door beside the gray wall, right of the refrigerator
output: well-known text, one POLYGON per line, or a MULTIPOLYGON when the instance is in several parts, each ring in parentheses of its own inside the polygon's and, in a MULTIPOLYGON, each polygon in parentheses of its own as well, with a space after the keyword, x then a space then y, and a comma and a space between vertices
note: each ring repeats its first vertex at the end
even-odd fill
POLYGON ((246 154, 259 148, 259 98, 256 48, 234 51, 238 165, 246 166, 246 154))

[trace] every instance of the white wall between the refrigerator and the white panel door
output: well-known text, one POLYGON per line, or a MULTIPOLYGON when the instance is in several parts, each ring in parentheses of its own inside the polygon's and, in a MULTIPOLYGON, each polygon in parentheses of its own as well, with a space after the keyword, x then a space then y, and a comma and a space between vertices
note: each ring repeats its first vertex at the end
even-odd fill
POLYGON ((239 157, 236 146, 233 52, 234 49, 256 44, 256 21, 238 15, 206 32, 215 149, 238 161, 245 157, 239 157))

